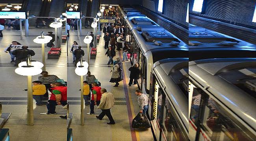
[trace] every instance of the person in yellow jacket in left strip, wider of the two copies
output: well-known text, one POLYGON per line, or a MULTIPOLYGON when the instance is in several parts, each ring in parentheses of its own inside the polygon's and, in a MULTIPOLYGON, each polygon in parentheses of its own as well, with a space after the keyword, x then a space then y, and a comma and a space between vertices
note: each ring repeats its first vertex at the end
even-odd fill
POLYGON ((36 102, 35 104, 43 105, 41 100, 43 98, 43 95, 46 93, 45 85, 43 85, 41 81, 33 81, 32 84, 33 84, 32 94, 33 94, 33 99, 35 99, 35 102, 36 102))

